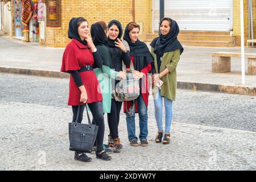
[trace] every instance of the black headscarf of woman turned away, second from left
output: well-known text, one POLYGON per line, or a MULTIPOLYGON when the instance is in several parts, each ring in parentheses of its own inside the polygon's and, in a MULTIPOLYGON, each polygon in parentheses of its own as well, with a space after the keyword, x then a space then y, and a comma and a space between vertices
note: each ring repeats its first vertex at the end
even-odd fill
POLYGON ((106 33, 99 23, 93 23, 90 27, 90 35, 95 46, 105 45, 108 47, 106 33))

